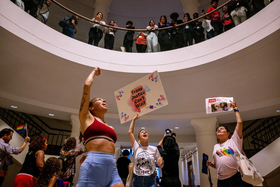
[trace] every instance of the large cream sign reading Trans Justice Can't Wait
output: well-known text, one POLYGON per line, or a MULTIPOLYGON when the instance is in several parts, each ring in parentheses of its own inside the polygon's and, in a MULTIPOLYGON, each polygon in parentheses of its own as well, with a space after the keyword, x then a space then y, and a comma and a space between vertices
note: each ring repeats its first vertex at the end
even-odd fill
POLYGON ((144 115, 167 105, 167 99, 155 71, 115 91, 120 123, 132 120, 137 114, 144 115))

